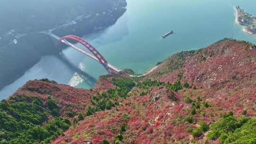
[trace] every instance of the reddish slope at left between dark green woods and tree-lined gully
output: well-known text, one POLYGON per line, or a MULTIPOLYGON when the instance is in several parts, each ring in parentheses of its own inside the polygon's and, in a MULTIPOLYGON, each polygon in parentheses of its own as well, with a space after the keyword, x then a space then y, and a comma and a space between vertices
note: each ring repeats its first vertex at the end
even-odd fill
POLYGON ((68 111, 80 112, 91 105, 92 91, 46 80, 28 81, 13 94, 13 96, 17 95, 38 96, 44 100, 51 96, 60 106, 61 116, 65 116, 68 111))

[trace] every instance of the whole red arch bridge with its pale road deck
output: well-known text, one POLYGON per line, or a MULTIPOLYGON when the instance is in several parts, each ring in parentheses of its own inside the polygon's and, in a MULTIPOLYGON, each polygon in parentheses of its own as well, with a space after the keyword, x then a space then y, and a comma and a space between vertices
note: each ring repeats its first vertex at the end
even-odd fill
MULTIPOLYGON (((94 59, 95 61, 98 61, 99 63, 101 63, 103 65, 103 67, 107 70, 107 72, 109 74, 118 74, 119 72, 121 72, 122 70, 120 70, 119 68, 111 65, 110 63, 108 63, 108 61, 101 55, 101 53, 99 53, 96 48, 94 48, 91 44, 89 44, 88 42, 86 42, 84 39, 82 39, 81 37, 78 36, 73 36, 73 35, 68 35, 68 36, 64 36, 62 38, 59 39, 60 42, 71 46, 72 48, 74 48, 75 50, 81 52, 82 54, 85 54, 89 57, 91 57, 92 59, 94 59), (86 47, 91 53, 86 52, 85 50, 83 50, 82 48, 73 45, 72 43, 68 42, 68 39, 73 39, 77 42, 79 42, 80 44, 82 44, 84 47, 86 47)), ((126 73, 126 72, 125 72, 126 73)), ((128 76, 134 77, 133 75, 130 75, 128 73, 126 73, 128 76)))

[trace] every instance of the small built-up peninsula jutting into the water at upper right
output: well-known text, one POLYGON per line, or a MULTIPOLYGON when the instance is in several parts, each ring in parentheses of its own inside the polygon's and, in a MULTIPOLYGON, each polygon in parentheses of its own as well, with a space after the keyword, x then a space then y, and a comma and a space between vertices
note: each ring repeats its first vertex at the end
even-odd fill
POLYGON ((236 10, 236 22, 239 25, 246 26, 243 29, 245 32, 256 35, 256 16, 249 14, 244 9, 241 9, 239 6, 236 6, 236 10))

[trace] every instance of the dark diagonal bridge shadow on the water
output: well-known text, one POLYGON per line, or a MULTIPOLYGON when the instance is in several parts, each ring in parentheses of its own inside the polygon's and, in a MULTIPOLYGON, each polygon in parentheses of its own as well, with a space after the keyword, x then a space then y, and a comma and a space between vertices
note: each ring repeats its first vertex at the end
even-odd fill
POLYGON ((82 71, 73 63, 71 63, 62 52, 60 52, 59 54, 55 54, 55 56, 59 58, 59 60, 62 61, 64 64, 66 64, 66 66, 68 66, 71 70, 78 73, 78 75, 84 79, 84 82, 87 83, 91 88, 94 87, 95 83, 97 82, 97 79, 95 79, 88 73, 82 71))

